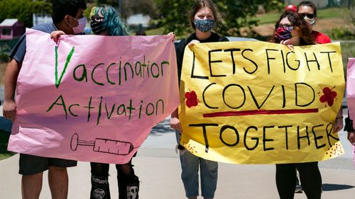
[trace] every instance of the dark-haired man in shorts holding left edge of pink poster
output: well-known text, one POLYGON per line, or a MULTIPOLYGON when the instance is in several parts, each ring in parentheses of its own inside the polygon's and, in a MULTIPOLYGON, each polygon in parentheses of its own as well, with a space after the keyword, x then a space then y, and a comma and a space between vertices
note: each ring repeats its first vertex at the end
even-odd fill
MULTIPOLYGON (((53 23, 40 24, 33 29, 45 33, 61 30, 67 34, 82 33, 86 24, 83 13, 87 8, 84 0, 54 0, 52 18, 53 23)), ((16 120, 16 103, 14 101, 16 81, 26 54, 26 35, 23 35, 13 48, 5 75, 5 101, 3 107, 4 118, 16 120)), ((36 78, 33 76, 33 78, 36 78)), ((39 198, 42 189, 43 171, 48 170, 48 183, 52 198, 67 198, 68 176, 67 167, 76 166, 77 161, 38 157, 20 154, 18 171, 22 175, 22 198, 39 198)))

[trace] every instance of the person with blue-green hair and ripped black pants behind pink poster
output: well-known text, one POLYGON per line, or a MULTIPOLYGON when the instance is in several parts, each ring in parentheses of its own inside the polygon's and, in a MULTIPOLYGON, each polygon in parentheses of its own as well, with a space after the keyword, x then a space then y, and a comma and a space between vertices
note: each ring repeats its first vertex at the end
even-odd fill
MULTIPOLYGON (((89 16, 90 27, 95 35, 122 36, 129 35, 127 28, 121 21, 119 13, 112 6, 98 5, 92 8, 89 16)), ((63 35, 60 31, 51 33, 55 42, 63 35)), ((136 154, 133 155, 135 157, 136 154)), ((132 160, 131 160, 132 161, 132 160)), ((119 185, 119 199, 138 199, 139 180, 134 174, 133 165, 116 164, 117 181, 119 185)), ((91 199, 109 199, 109 164, 91 162, 91 199)))

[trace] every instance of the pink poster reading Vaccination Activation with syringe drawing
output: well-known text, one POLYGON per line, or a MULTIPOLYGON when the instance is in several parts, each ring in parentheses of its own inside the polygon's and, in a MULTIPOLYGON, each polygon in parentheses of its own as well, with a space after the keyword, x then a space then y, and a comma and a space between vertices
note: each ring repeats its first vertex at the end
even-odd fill
POLYGON ((9 151, 124 164, 178 107, 173 36, 27 29, 9 151))

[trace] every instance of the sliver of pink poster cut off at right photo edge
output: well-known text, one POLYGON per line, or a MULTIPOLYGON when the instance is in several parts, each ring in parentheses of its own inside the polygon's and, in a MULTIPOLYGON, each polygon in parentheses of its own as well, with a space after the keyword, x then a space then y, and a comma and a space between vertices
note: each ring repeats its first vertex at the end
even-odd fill
POLYGON ((346 69, 346 102, 349 108, 349 116, 352 120, 354 120, 355 118, 355 58, 349 58, 348 66, 346 69))

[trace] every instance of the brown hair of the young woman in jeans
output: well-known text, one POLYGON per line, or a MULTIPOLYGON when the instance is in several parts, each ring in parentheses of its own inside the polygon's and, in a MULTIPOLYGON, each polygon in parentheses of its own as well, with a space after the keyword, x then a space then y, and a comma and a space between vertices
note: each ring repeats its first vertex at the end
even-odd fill
POLYGON ((214 2, 212 0, 198 0, 195 2, 195 4, 192 6, 192 8, 190 9, 188 15, 189 15, 189 19, 190 19, 190 25, 191 27, 196 30, 194 21, 195 21, 195 15, 197 13, 197 11, 199 11, 201 8, 210 8, 213 16, 214 16, 214 21, 216 21, 216 25, 222 23, 222 16, 221 13, 219 13, 219 10, 216 6, 216 4, 214 4, 214 2))

